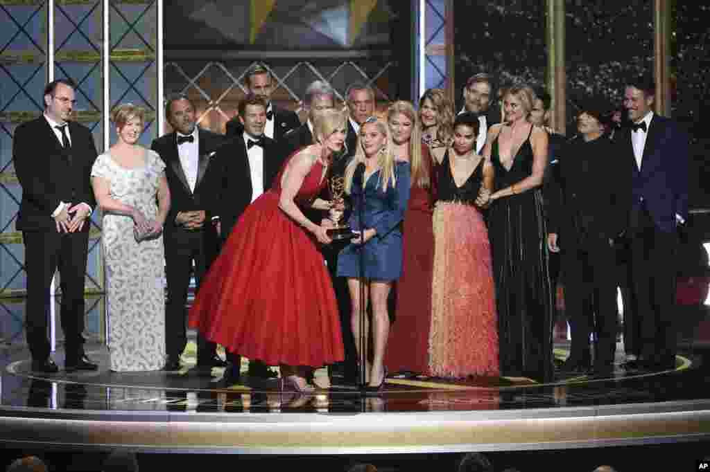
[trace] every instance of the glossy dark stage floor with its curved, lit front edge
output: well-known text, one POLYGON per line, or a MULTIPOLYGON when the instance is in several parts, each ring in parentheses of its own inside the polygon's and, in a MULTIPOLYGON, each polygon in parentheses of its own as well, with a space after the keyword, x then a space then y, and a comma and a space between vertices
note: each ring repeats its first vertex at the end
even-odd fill
MULTIPOLYGON (((559 359, 565 343, 557 345, 559 359)), ((188 349, 189 350, 189 349, 188 349)), ((617 349, 621 352, 621 349, 617 349)), ((610 378, 390 376, 381 394, 346 386, 302 395, 276 379, 222 369, 112 373, 108 352, 87 346, 97 372, 38 375, 24 349, 1 352, 0 442, 59 449, 249 454, 391 454, 520 451, 707 440, 710 347, 689 345, 676 369, 610 378)), ((53 356, 60 368, 61 352, 53 356)), ((337 381, 337 378, 336 378, 337 381)))

